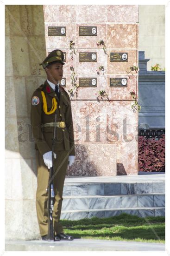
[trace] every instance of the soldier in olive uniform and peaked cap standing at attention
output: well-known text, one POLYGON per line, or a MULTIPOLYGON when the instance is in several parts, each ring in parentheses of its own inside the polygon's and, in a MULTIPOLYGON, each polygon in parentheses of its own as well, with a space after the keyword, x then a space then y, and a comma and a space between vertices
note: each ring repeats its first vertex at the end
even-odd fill
POLYGON ((43 240, 48 234, 48 181, 49 169, 54 170, 55 202, 53 209, 53 229, 55 241, 73 240, 73 236, 63 233, 59 222, 63 184, 69 166, 75 160, 73 121, 69 94, 59 81, 63 77, 64 55, 61 50, 52 51, 40 64, 47 74, 47 80, 37 88, 31 97, 31 127, 35 138, 38 165, 36 210, 38 225, 43 240), (52 137, 56 125, 54 161, 52 163, 52 137))

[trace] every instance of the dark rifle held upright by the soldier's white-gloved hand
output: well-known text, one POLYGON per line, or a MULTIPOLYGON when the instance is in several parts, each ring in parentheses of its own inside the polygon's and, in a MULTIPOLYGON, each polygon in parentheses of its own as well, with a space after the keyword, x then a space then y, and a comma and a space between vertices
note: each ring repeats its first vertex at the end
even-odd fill
POLYGON ((48 240, 54 241, 54 230, 53 230, 53 218, 52 218, 52 212, 53 212, 53 206, 54 206, 54 184, 53 184, 53 163, 54 163, 54 143, 56 138, 56 120, 57 120, 57 113, 55 115, 55 126, 54 126, 54 134, 52 138, 52 167, 50 168, 49 173, 49 186, 48 186, 48 240))

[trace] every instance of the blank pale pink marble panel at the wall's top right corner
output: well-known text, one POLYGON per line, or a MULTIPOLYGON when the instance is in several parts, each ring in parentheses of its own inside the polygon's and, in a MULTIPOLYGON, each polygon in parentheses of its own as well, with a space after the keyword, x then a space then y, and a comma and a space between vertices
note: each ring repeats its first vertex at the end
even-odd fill
POLYGON ((138 5, 107 5, 107 22, 138 22, 138 5))

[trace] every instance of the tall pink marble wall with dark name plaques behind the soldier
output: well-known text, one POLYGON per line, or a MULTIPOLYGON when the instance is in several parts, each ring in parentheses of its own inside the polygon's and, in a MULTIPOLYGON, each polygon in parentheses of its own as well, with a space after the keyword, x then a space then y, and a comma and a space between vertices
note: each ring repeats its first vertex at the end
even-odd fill
POLYGON ((72 88, 70 66, 79 78, 97 78, 97 87, 78 88, 71 97, 76 161, 67 175, 138 174, 138 112, 132 111, 132 96, 138 99, 138 73, 127 73, 138 66, 137 5, 45 5, 44 27, 46 54, 54 49, 66 53, 63 77, 72 88), (96 36, 80 36, 80 26, 97 26, 96 36), (66 36, 49 36, 49 27, 66 27, 66 36), (69 41, 75 42, 71 59, 69 41), (107 54, 102 45, 103 40, 107 54), (96 62, 79 62, 80 52, 97 53, 96 62), (110 53, 126 52, 128 61, 111 62, 110 53), (97 74, 100 66, 104 70, 97 74), (126 77, 127 87, 110 87, 112 77, 126 77), (105 96, 97 101, 100 90, 105 96))

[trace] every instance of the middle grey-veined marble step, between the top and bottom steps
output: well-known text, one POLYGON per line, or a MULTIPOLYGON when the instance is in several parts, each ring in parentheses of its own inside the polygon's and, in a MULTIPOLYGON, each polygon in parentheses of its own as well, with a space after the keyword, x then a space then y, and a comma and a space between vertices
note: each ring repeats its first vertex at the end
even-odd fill
POLYGON ((79 195, 63 196, 63 210, 84 209, 118 209, 118 208, 145 208, 164 207, 165 195, 135 194, 135 195, 79 195))

